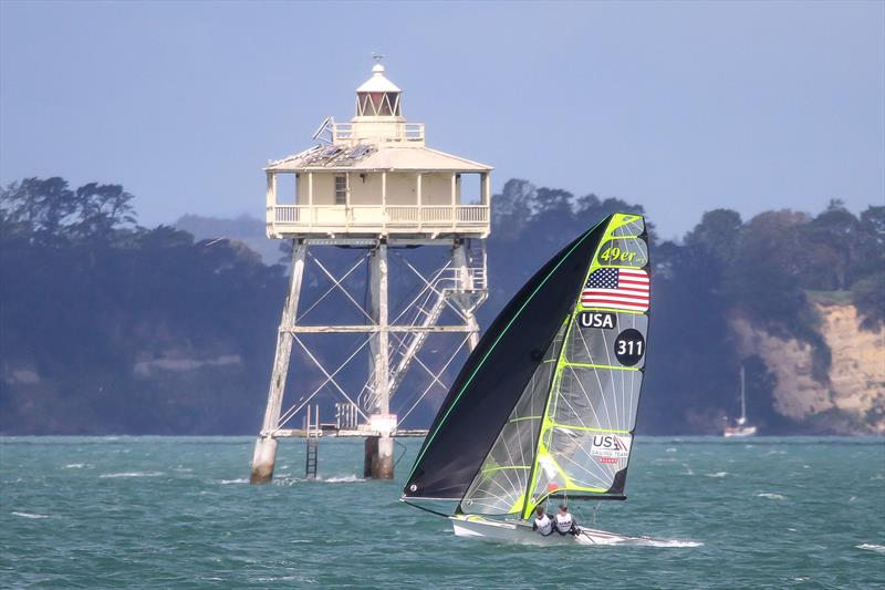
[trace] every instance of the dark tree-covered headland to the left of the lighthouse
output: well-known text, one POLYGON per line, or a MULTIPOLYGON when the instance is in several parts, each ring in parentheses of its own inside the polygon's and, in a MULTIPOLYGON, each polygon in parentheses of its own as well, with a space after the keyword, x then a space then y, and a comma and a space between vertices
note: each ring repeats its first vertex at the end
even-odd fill
POLYGON ((227 240, 139 227, 132 201, 61 178, 0 193, 0 432, 258 424, 283 269, 227 240), (155 376, 164 363, 195 370, 155 376))

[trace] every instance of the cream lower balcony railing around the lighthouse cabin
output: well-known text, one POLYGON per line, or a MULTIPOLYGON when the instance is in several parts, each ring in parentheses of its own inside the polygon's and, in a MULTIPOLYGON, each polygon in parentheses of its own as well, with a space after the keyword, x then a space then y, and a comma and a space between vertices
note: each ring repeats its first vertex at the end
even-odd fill
POLYGON ((487 232, 487 205, 275 205, 268 209, 272 234, 342 231, 487 232))

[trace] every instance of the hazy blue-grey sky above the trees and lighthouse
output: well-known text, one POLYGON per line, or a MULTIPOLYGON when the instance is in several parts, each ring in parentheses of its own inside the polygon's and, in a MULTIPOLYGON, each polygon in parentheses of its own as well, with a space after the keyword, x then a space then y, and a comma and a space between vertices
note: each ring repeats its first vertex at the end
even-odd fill
POLYGON ((146 226, 262 218, 262 166, 353 116, 373 52, 496 192, 618 197, 664 237, 885 204, 881 1, 0 0, 0 183, 122 184, 146 226))

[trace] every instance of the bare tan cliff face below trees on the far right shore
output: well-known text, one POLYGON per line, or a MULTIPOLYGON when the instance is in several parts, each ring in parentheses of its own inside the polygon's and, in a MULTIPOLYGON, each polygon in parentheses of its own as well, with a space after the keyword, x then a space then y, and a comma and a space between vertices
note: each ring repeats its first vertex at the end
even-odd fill
POLYGON ((812 376, 810 344, 785 340, 736 317, 731 328, 743 355, 760 355, 778 379, 774 411, 834 434, 885 434, 885 327, 861 330, 851 304, 815 303, 830 346, 829 383, 812 376))

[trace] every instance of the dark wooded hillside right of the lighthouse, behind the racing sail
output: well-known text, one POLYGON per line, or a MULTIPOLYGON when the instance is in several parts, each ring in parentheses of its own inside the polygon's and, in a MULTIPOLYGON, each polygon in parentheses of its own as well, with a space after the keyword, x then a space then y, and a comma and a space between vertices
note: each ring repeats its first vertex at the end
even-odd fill
MULTIPOLYGON (((489 272, 497 311, 532 269, 602 216, 643 208, 593 195, 510 180, 494 200, 489 272)), ((834 200, 818 216, 766 211, 743 221, 737 211, 707 211, 680 242, 654 240, 648 380, 639 421, 644 432, 698 433, 736 415, 745 363, 753 420, 767 432, 796 432, 772 408, 774 375, 759 356, 741 358, 729 319, 741 314, 772 333, 812 344, 814 374, 826 381, 830 351, 815 331, 809 292, 851 300, 867 328, 885 307, 885 207, 860 217, 834 200)), ((486 321, 488 324, 488 320, 486 321)))

